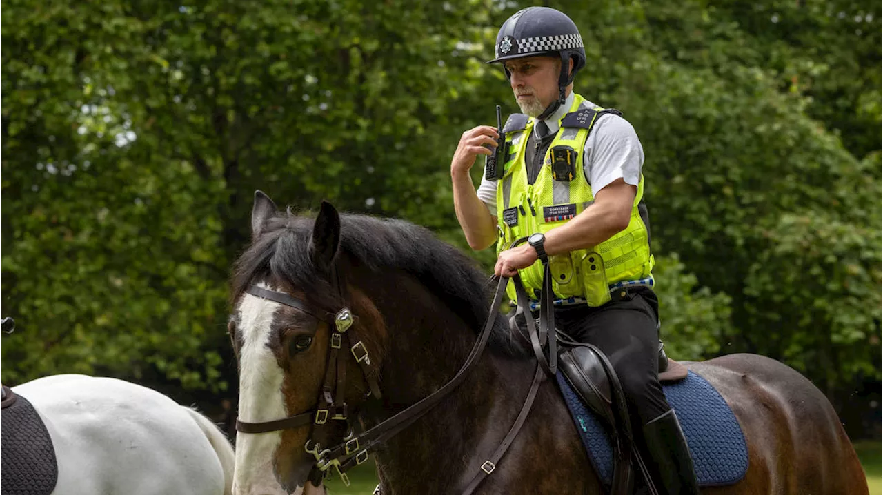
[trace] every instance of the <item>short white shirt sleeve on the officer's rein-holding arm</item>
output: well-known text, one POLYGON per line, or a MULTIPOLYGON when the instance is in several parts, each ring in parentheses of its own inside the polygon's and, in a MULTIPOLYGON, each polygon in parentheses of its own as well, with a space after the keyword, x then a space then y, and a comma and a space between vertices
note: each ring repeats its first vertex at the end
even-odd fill
POLYGON ((600 116, 583 153, 583 172, 592 194, 619 178, 637 186, 643 166, 644 148, 629 121, 617 115, 600 116))

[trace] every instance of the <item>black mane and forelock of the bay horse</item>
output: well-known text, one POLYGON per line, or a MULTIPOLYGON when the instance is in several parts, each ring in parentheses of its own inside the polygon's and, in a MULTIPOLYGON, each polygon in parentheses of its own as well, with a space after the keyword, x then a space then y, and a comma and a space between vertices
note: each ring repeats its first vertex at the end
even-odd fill
MULTIPOLYGON (((487 274, 463 251, 443 242, 426 228, 408 221, 362 214, 341 214, 340 249, 337 258, 349 256, 353 263, 382 275, 391 268, 413 275, 438 296, 450 311, 478 333, 485 325, 494 287, 487 274)), ((234 266, 233 301, 255 281, 272 277, 289 281, 306 294, 307 300, 324 311, 336 311, 327 275, 310 259, 309 242, 313 218, 288 212, 268 219, 260 236, 234 266)), ((509 356, 524 356, 525 350, 512 340, 508 325, 498 318, 490 341, 494 349, 509 356)))

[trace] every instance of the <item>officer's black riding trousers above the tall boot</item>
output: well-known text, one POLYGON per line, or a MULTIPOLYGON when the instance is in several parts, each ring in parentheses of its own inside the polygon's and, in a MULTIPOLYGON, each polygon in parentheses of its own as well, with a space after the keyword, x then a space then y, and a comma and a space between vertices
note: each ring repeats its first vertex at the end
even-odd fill
POLYGON ((659 382, 659 300, 653 289, 630 288, 620 300, 598 308, 555 307, 555 326, 576 341, 592 344, 613 364, 629 405, 635 433, 671 409, 659 382))

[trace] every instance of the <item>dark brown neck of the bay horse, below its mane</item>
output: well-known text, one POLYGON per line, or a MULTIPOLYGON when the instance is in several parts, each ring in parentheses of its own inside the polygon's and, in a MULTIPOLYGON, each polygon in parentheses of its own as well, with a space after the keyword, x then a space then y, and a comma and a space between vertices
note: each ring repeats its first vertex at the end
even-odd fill
MULTIPOLYGON (((375 296, 389 328, 383 365, 383 405, 366 409, 376 424, 432 394, 464 364, 479 329, 464 325, 453 311, 414 281, 397 281, 395 298, 375 296), (404 284, 404 285, 403 285, 404 284), (401 311, 401 294, 408 311, 401 311), (398 310, 398 311, 396 311, 398 310)), ((492 357, 485 350, 457 390, 377 453, 384 484, 396 493, 446 491, 464 483, 490 455, 515 420, 530 377, 530 361, 492 357)))

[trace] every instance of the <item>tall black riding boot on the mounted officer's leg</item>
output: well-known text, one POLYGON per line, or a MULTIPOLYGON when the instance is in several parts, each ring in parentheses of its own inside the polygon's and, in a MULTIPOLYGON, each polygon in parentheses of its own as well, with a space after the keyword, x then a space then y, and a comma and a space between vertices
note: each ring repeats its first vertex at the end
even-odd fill
POLYGON ((643 430, 647 453, 661 483, 657 488, 668 495, 698 495, 693 459, 675 409, 645 424, 643 430))

